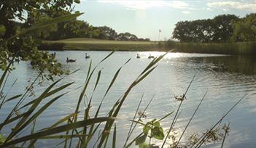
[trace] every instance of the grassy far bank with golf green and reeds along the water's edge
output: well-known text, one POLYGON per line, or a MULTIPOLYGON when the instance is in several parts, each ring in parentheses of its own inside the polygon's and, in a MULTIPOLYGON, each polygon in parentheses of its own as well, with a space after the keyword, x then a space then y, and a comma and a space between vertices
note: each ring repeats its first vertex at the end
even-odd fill
POLYGON ((179 43, 174 41, 106 41, 91 38, 70 38, 44 41, 40 49, 47 50, 119 50, 256 55, 256 42, 179 43))

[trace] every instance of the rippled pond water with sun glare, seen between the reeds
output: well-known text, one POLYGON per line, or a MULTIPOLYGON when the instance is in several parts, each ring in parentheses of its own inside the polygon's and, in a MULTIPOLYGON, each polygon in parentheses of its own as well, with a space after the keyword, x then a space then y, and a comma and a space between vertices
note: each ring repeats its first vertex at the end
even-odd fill
MULTIPOLYGON (((90 59, 93 60, 93 65, 96 65, 109 52, 87 52, 90 59)), ((112 80, 115 72, 129 58, 131 62, 123 67, 120 75, 117 77, 113 88, 109 91, 104 101, 104 107, 101 110, 101 115, 106 115, 117 99, 128 89, 128 86, 134 79, 144 70, 144 67, 150 63, 152 59, 148 59, 151 54, 158 56, 163 52, 138 52, 140 59, 136 59, 137 52, 116 52, 106 62, 102 63, 97 70, 102 70, 101 81, 98 83, 96 93, 93 94, 92 110, 96 111, 97 104, 101 101, 108 84, 112 80)), ((85 52, 56 52, 58 59, 63 63, 63 66, 69 70, 80 70, 64 79, 61 84, 74 81, 74 85, 68 89, 69 94, 66 94, 58 102, 55 102, 52 107, 45 112, 37 122, 36 128, 45 128, 50 124, 55 123, 61 117, 74 112, 77 105, 79 92, 85 81, 86 73, 88 72, 88 63, 90 59, 85 59, 85 52), (77 62, 66 63, 66 57, 77 59, 77 62), (79 89, 77 89, 79 88, 79 89)), ((144 99, 140 110, 144 110, 147 102, 154 97, 150 109, 147 110, 147 119, 161 118, 167 112, 177 109, 178 102, 174 100, 174 95, 181 95, 190 83, 193 75, 195 81, 187 92, 187 100, 182 104, 182 113, 177 120, 177 131, 182 131, 187 121, 189 120, 195 107, 200 102, 203 94, 208 90, 206 99, 195 115, 190 127, 187 128, 187 133, 184 138, 188 138, 191 133, 203 132, 206 128, 211 127, 232 105, 248 94, 246 99, 236 107, 235 110, 223 121, 230 122, 231 131, 228 139, 225 141, 225 147, 254 147, 256 144, 256 60, 254 57, 243 56, 228 56, 217 54, 185 54, 185 53, 169 53, 159 63, 158 67, 138 86, 136 86, 124 105, 117 120, 118 129, 118 146, 123 145, 125 136, 127 135, 130 123, 128 119, 133 118, 136 106, 139 99, 144 94, 144 99)), ((27 85, 28 78, 35 78, 36 72, 31 70, 31 66, 21 62, 18 65, 18 70, 15 70, 11 78, 18 78, 18 83, 12 94, 22 92, 24 86, 27 85)), ((92 83, 88 88, 86 95, 90 98, 93 90, 93 85, 96 83, 96 75, 92 78, 92 83)), ((36 89, 36 92, 44 90, 50 82, 44 82, 43 86, 36 89)), ((60 85, 61 85, 60 84, 60 85)), ((10 86, 11 83, 7 84, 10 86)), ((8 87, 7 87, 8 88, 8 87)), ((39 93, 37 94, 39 95, 39 93)), ((86 101, 85 101, 86 103, 86 101)), ((4 107, 4 112, 0 112, 0 120, 3 120, 7 110, 12 107, 12 104, 7 104, 4 107)), ((80 117, 82 118, 82 116, 80 117)), ((171 119, 167 118, 163 121, 165 129, 170 125, 171 119)), ((5 129, 7 132, 9 129, 5 129)), ((136 133, 140 133, 141 128, 138 128, 136 133)), ((178 133, 179 134, 179 133, 178 133)), ((157 142, 157 141, 156 141, 157 142)), ((183 140, 182 142, 185 142, 183 140)), ((38 142, 40 147, 50 147, 57 144, 56 141, 38 142)), ((110 142, 111 144, 111 142, 110 142)), ((91 145, 92 146, 92 145, 91 145)), ((217 144, 218 146, 218 144, 217 144)), ((212 147, 210 145, 209 147, 212 147)))

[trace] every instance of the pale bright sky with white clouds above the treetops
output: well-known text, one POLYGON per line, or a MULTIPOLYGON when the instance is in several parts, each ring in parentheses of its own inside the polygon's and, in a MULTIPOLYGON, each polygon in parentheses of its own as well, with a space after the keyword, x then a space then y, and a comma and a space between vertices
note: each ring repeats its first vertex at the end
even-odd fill
POLYGON ((231 14, 244 17, 256 13, 256 0, 244 1, 171 1, 171 0, 80 0, 74 10, 94 26, 109 26, 117 33, 133 33, 139 38, 171 38, 175 24, 231 14), (159 36, 159 30, 160 36, 159 36))

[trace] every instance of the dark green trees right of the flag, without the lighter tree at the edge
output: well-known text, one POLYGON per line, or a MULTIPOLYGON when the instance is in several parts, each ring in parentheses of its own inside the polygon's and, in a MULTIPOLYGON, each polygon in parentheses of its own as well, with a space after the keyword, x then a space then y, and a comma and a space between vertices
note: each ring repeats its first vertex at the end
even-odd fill
POLYGON ((218 15, 213 19, 177 22, 173 38, 181 42, 227 42, 233 34, 236 15, 218 15))

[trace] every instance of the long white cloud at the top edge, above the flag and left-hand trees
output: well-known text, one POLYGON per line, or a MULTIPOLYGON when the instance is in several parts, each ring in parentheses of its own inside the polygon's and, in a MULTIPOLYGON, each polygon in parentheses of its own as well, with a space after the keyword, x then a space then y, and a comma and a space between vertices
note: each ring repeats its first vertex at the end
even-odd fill
POLYGON ((174 9, 186 9, 188 4, 185 1, 164 1, 164 0, 98 0, 101 3, 118 4, 130 9, 150 9, 153 7, 171 7, 174 9))

